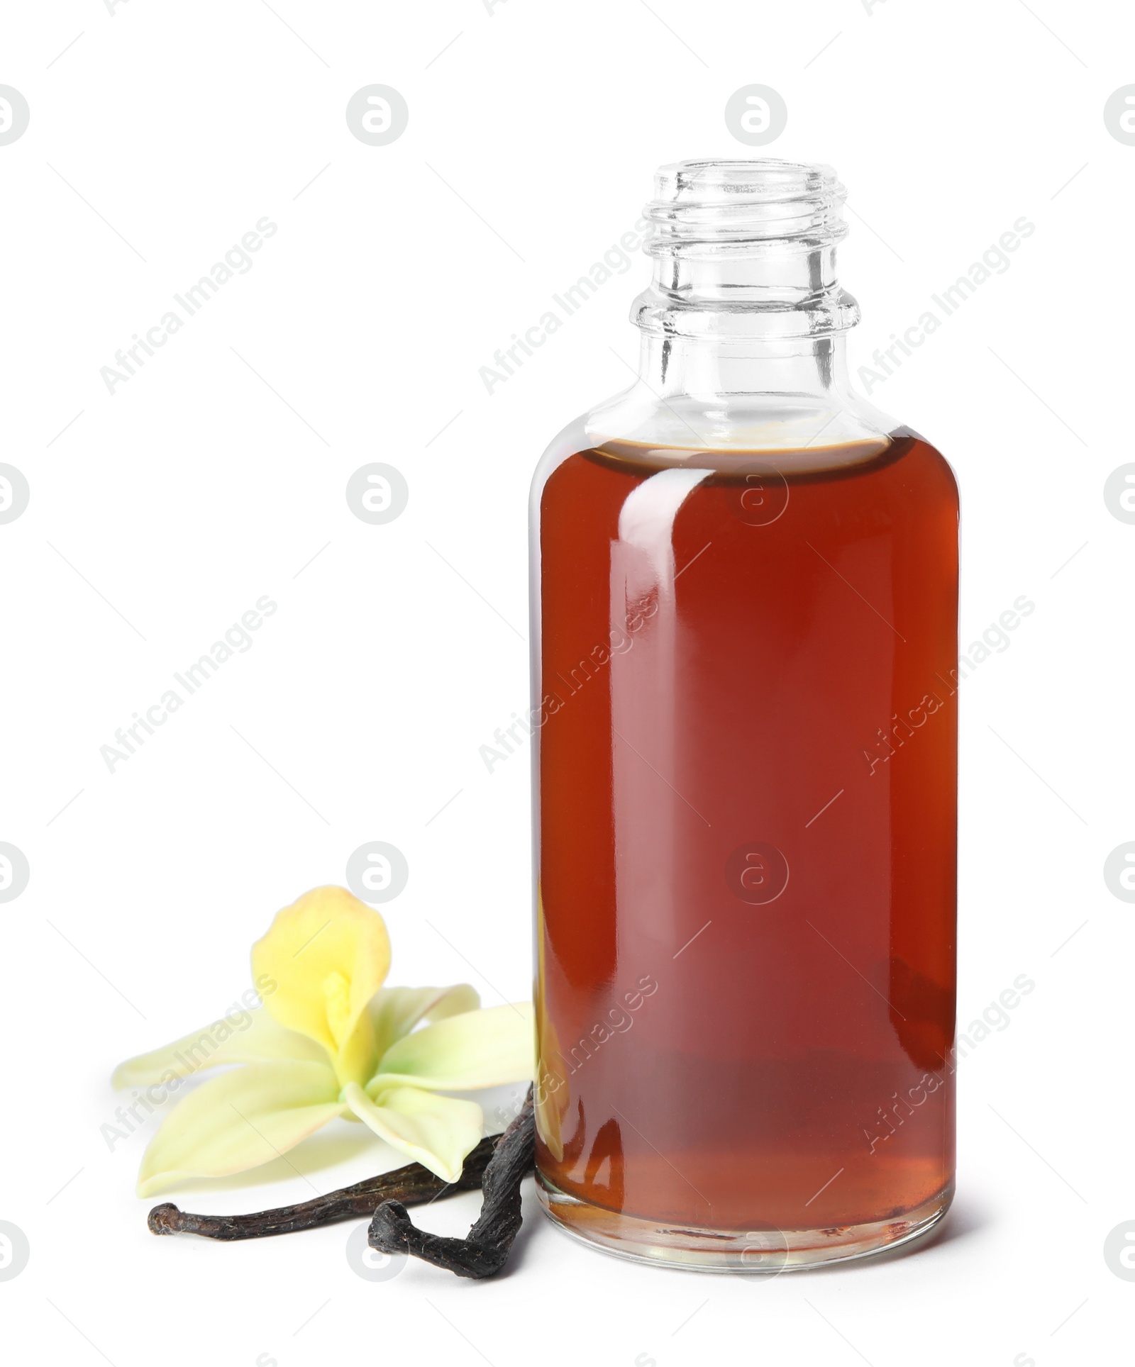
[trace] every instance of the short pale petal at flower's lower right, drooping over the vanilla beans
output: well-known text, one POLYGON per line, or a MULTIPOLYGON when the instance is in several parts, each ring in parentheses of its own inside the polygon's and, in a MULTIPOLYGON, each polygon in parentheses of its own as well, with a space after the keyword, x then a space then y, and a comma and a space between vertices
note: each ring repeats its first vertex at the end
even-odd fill
POLYGON ((476 1102, 392 1087, 376 1103, 356 1083, 343 1088, 343 1100, 387 1144, 447 1182, 457 1181, 465 1155, 481 1139, 484 1117, 476 1102))

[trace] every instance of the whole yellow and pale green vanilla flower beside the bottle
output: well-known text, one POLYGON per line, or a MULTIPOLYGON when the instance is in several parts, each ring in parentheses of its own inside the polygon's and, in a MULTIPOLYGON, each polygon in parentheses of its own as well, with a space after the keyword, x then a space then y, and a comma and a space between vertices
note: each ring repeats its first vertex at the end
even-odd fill
POLYGON ((455 1181, 481 1107, 440 1092, 532 1079, 531 1005, 480 1010, 464 983, 384 988, 386 925, 346 889, 284 908, 253 945, 252 969, 264 1005, 245 1024, 215 1023, 115 1070, 116 1087, 172 1091, 200 1069, 245 1065, 175 1106, 142 1158, 139 1196, 257 1167, 340 1115, 455 1181))

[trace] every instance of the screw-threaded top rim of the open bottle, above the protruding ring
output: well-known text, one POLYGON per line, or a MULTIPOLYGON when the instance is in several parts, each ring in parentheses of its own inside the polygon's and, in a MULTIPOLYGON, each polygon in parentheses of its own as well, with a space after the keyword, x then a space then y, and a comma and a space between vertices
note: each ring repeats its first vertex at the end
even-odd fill
POLYGON ((848 231, 845 198, 827 165, 775 157, 674 161, 655 172, 643 250, 665 257, 834 246, 848 231))

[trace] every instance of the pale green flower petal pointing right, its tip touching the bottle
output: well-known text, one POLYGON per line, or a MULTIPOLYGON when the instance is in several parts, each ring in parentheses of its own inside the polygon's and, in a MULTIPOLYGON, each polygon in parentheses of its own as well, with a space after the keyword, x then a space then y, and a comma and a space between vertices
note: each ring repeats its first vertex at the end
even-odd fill
POLYGON ((536 1072, 531 1002, 464 1012, 414 1031, 392 1044, 366 1084, 405 1083, 442 1092, 466 1092, 500 1083, 529 1083, 536 1072))

